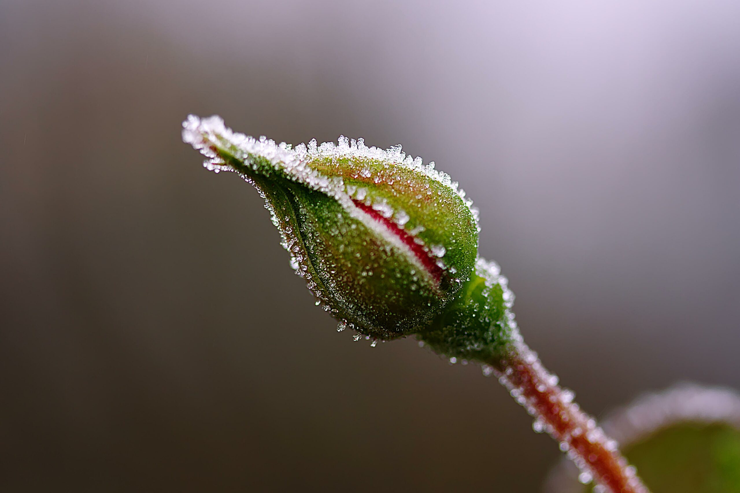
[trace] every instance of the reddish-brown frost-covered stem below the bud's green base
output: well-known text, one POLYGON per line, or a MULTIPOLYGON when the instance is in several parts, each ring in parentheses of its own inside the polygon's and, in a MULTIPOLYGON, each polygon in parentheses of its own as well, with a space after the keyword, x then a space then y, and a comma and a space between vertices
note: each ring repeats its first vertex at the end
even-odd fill
POLYGON ((499 381, 535 418, 536 432, 548 432, 581 469, 579 480, 596 481, 594 492, 649 493, 633 466, 619 453, 596 420, 573 402, 573 392, 539 362, 525 343, 514 343, 509 355, 494 365, 499 381))

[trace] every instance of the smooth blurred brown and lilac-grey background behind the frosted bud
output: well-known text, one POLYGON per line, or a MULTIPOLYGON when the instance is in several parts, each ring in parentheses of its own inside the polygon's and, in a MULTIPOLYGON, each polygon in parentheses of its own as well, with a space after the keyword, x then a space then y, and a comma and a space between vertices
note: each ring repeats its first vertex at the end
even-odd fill
POLYGON ((476 366, 353 343, 188 113, 436 161, 600 415, 740 387, 736 1, 0 0, 0 489, 537 492, 476 366))

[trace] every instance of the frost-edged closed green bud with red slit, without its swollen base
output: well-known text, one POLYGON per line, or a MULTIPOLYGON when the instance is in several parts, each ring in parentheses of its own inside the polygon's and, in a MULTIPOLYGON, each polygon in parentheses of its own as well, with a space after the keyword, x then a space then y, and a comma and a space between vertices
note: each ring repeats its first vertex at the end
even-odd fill
POLYGON ((237 172, 272 212, 314 295, 346 326, 390 339, 454 301, 477 258, 477 212, 448 175, 362 139, 276 144, 190 115, 183 140, 209 170, 237 172))

